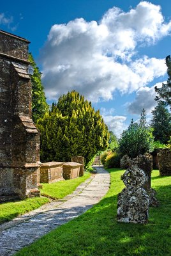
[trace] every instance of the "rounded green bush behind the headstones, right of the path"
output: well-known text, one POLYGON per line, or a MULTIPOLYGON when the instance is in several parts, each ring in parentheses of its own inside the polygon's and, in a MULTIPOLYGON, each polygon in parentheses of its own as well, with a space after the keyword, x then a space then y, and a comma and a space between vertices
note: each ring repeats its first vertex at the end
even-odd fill
POLYGON ((121 156, 128 155, 131 158, 138 154, 151 152, 153 150, 152 128, 146 124, 145 110, 142 110, 140 122, 133 122, 128 129, 123 131, 119 139, 119 151, 121 156))

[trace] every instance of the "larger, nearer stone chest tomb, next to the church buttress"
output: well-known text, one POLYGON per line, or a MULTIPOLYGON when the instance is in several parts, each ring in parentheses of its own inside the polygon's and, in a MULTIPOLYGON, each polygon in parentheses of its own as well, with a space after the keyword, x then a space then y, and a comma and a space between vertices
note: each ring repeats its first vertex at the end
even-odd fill
POLYGON ((40 183, 53 183, 63 180, 63 163, 48 162, 41 164, 40 183))

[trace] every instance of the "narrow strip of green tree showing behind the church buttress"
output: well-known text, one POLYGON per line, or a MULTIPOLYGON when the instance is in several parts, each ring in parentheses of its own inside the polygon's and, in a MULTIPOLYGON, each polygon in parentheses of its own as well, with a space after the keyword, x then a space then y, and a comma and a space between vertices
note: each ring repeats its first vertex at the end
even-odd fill
POLYGON ((31 53, 29 53, 29 61, 34 68, 33 76, 31 76, 32 83, 32 118, 36 123, 38 118, 42 117, 48 111, 48 104, 44 93, 43 85, 41 84, 41 72, 31 53))

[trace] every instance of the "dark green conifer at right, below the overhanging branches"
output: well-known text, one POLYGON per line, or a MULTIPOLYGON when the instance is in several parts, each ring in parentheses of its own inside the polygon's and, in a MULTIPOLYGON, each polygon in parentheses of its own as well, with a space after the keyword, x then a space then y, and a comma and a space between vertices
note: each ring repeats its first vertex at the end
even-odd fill
POLYGON ((171 134, 171 115, 162 101, 152 111, 151 127, 154 140, 166 144, 171 134))

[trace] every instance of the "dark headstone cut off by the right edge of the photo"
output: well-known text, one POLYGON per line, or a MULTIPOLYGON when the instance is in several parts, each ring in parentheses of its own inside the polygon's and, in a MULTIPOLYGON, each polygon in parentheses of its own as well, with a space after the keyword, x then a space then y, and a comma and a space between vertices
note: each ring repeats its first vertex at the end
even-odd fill
POLYGON ((171 150, 164 148, 158 153, 158 165, 160 176, 171 175, 171 150))

